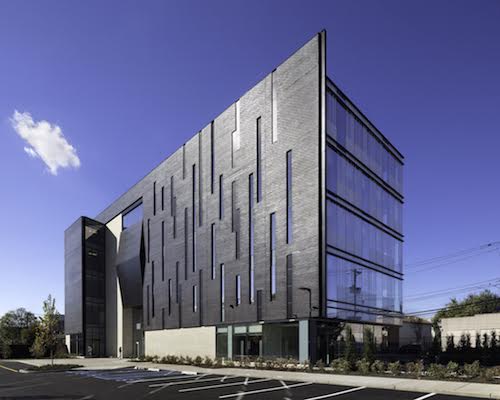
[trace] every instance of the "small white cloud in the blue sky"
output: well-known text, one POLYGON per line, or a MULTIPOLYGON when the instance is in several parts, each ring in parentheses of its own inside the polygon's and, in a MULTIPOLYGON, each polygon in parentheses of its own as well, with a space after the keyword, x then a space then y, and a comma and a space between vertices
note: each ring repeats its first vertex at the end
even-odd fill
POLYGON ((10 123, 29 146, 24 151, 33 158, 40 157, 52 175, 59 168, 80 166, 76 149, 68 143, 61 127, 48 121, 33 121, 28 112, 14 111, 10 123))

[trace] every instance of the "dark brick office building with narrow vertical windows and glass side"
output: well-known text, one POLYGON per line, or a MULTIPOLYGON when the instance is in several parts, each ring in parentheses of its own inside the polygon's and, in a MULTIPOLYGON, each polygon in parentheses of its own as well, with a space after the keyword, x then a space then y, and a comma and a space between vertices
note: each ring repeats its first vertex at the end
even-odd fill
POLYGON ((315 35, 68 228, 70 351, 326 360, 340 321, 397 342, 402 169, 315 35))

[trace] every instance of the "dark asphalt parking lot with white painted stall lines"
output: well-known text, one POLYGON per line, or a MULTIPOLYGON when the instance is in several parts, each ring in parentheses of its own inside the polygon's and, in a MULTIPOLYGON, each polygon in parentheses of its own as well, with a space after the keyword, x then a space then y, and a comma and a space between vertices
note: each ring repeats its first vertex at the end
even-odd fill
POLYGON ((324 385, 235 375, 121 368, 69 372, 17 372, 0 363, 0 399, 228 399, 228 400, 446 400, 473 399, 434 393, 324 385))

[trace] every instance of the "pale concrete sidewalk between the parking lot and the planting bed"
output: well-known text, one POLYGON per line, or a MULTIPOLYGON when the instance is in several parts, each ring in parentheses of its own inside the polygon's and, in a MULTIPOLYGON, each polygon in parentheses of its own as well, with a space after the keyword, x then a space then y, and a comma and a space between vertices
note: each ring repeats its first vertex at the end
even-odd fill
MULTIPOLYGON (((14 361, 14 360, 13 360, 14 361)), ((50 360, 15 360, 32 365, 43 365, 50 360)), ((468 383, 452 381, 432 381, 392 377, 359 375, 335 375, 308 372, 256 370, 245 368, 200 368, 190 365, 156 364, 148 362, 130 362, 116 358, 68 358, 54 360, 58 364, 80 364, 85 369, 113 369, 138 366, 141 368, 160 368, 174 371, 190 371, 222 375, 238 375, 253 378, 272 378, 287 381, 314 382, 344 386, 366 386, 377 389, 403 390, 422 393, 439 393, 456 396, 500 399, 500 384, 468 383)))

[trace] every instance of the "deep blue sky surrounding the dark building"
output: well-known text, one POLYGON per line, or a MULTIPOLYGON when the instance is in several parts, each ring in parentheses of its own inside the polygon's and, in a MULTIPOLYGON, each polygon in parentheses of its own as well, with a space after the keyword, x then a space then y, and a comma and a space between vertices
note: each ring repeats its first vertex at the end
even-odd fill
MULTIPOLYGON (((493 0, 2 1, 0 314, 40 312, 49 293, 62 311, 64 229, 323 28, 329 76, 406 157, 405 261, 500 240, 499 20, 493 0), (60 127, 50 168, 16 134, 15 110, 20 131, 60 127)), ((499 265, 491 252, 408 274, 404 290, 491 279, 499 265)))

